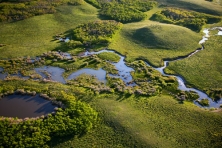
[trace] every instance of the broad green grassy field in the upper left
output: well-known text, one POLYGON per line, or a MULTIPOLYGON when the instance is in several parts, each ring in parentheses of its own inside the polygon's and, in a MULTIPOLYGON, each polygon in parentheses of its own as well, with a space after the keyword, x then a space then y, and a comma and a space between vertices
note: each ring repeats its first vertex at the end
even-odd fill
POLYGON ((56 34, 74 29, 77 25, 98 20, 97 9, 89 4, 63 5, 55 14, 35 16, 23 21, 0 24, 0 59, 36 56, 60 46, 53 41, 56 34))

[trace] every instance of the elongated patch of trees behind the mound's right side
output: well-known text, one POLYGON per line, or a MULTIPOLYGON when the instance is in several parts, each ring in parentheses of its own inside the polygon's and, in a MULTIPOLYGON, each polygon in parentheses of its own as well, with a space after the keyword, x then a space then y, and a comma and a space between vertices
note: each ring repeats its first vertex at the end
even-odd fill
POLYGON ((187 11, 178 8, 166 8, 157 12, 151 18, 163 23, 185 26, 199 32, 206 23, 216 23, 221 21, 221 17, 209 14, 187 11))

